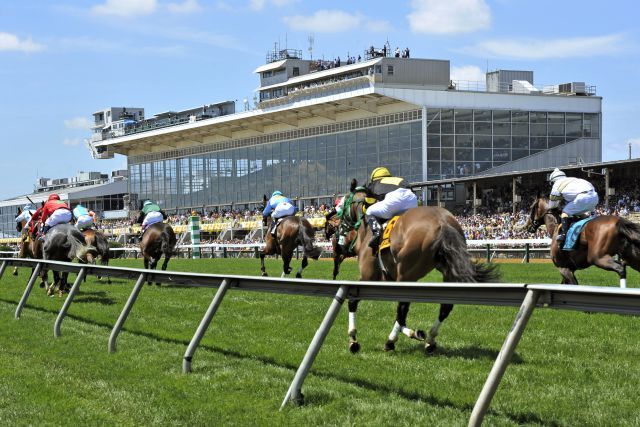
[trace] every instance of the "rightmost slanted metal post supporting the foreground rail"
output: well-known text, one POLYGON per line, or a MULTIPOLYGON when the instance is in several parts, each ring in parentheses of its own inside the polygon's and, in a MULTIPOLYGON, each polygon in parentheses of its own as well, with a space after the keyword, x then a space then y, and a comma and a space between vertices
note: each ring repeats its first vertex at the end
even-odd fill
POLYGON ((529 290, 527 295, 524 297, 524 301, 522 301, 520 310, 518 310, 513 326, 511 326, 511 329, 507 334, 507 338, 505 339, 504 344, 502 344, 502 348, 500 349, 500 353, 493 364, 493 368, 491 368, 489 377, 482 387, 478 401, 473 407, 473 412, 469 419, 469 427, 476 427, 482 424, 484 414, 487 412, 491 399, 498 389, 500 380, 504 375, 504 371, 507 369, 507 365, 511 361, 513 352, 522 337, 522 333, 524 332, 524 328, 527 326, 531 313, 533 313, 533 309, 536 307, 539 296, 539 291, 529 290))

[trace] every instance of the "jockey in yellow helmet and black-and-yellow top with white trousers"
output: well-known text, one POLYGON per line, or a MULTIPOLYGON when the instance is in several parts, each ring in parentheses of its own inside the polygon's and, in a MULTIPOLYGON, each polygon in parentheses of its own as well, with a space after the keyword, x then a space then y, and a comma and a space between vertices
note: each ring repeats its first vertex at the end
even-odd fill
POLYGON ((407 181, 391 175, 389 169, 377 167, 371 172, 371 182, 365 187, 375 203, 367 208, 365 221, 371 228, 369 247, 375 252, 380 245, 382 227, 378 219, 388 220, 407 209, 418 206, 418 198, 407 187, 407 181))

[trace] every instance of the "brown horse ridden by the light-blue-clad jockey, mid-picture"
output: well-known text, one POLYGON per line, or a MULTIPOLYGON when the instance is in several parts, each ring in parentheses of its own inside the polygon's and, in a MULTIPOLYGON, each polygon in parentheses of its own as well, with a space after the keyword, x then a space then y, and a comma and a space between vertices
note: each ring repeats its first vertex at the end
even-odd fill
MULTIPOLYGON (((264 196, 264 202, 267 202, 267 196, 264 196)), ((263 225, 266 225, 267 230, 271 230, 271 221, 273 219, 269 215, 264 221, 263 225)), ((306 218, 298 217, 295 215, 284 217, 280 220, 276 228, 276 236, 267 232, 265 236, 265 246, 260 253, 260 271, 263 276, 267 276, 267 270, 264 267, 264 257, 266 255, 278 254, 282 256, 282 276, 291 273, 291 259, 293 258, 293 252, 298 245, 304 249, 302 256, 302 265, 298 267, 296 272, 296 278, 302 277, 302 270, 309 265, 307 258, 318 259, 322 253, 322 249, 314 246, 314 230, 309 221, 306 218)))

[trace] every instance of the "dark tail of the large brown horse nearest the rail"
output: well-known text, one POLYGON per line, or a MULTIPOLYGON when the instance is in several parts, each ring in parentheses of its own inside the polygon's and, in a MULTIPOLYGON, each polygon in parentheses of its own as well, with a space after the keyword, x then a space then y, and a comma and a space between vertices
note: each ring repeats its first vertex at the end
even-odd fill
POLYGON ((444 225, 434 244, 436 267, 445 282, 487 283, 500 279, 495 265, 471 260, 464 235, 453 226, 444 225))

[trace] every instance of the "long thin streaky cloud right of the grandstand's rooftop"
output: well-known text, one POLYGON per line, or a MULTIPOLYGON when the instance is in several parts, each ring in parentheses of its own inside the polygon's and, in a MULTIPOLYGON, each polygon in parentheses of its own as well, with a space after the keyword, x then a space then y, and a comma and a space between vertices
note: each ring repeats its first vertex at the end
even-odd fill
POLYGON ((512 59, 576 58, 619 52, 623 49, 623 41, 620 34, 552 40, 486 40, 464 51, 483 57, 512 59))

